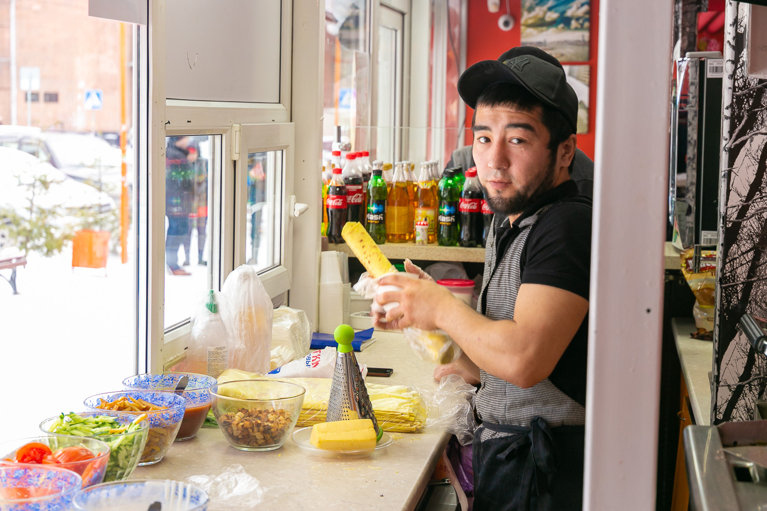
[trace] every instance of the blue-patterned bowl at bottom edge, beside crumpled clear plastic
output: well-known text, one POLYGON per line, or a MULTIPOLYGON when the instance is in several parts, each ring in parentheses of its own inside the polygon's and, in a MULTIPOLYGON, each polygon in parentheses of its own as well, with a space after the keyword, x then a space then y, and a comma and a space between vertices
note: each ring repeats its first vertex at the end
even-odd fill
MULTIPOLYGON (((182 503, 188 498, 189 502, 170 506, 170 509, 178 511, 206 511, 208 509, 208 494, 197 486, 179 483, 178 481, 163 480, 130 480, 115 481, 91 486, 77 493, 74 497, 74 509, 79 511, 111 511, 116 503, 120 503, 120 509, 136 509, 144 511, 150 504, 159 502, 163 509, 168 508, 170 499, 166 498, 166 490, 170 495, 173 489, 175 499, 182 503), (180 495, 179 495, 180 490, 180 495)), ((179 502, 173 500, 173 503, 179 502)))

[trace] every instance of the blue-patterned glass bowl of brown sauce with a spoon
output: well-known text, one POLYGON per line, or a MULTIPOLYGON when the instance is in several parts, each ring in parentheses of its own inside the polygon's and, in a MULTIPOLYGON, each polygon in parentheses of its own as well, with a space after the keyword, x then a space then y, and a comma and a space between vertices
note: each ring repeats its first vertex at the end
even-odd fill
POLYGON ((186 411, 184 411, 179 433, 176 434, 176 442, 189 440, 202 427, 210 410, 208 389, 216 385, 216 378, 194 372, 155 372, 130 376, 123 380, 123 387, 128 390, 173 391, 184 376, 189 378, 189 382, 180 395, 186 399, 186 411))

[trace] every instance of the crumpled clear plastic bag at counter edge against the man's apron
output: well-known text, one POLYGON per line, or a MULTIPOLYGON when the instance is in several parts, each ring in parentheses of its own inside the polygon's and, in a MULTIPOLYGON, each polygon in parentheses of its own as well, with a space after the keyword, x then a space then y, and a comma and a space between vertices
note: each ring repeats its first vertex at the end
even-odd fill
POLYGON ((472 443, 477 423, 474 418, 476 387, 459 375, 446 375, 439 380, 436 391, 421 391, 428 404, 427 427, 439 427, 456 435, 462 445, 472 443))

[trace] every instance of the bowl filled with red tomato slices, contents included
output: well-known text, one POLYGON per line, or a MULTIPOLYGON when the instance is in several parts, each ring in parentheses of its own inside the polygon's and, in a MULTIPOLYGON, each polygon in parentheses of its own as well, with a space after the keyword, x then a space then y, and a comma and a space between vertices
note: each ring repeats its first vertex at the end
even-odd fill
POLYGON ((0 466, 55 465, 78 473, 83 487, 104 481, 109 446, 95 438, 33 437, 0 444, 0 466))

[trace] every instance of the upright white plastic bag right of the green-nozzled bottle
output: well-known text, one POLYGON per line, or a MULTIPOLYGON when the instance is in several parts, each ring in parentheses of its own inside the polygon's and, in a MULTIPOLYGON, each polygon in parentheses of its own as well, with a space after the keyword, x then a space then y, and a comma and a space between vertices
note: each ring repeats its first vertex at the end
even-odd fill
POLYGON ((221 291, 234 308, 235 346, 229 350, 230 367, 267 373, 274 309, 258 273, 243 264, 226 277, 221 291))

